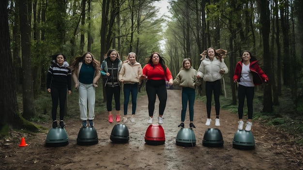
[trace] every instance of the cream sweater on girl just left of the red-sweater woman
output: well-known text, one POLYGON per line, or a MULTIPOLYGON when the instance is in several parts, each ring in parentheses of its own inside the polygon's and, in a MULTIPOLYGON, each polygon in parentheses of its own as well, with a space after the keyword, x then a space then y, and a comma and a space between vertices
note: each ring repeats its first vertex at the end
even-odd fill
POLYGON ((122 65, 118 74, 119 82, 123 79, 124 84, 139 83, 140 76, 142 75, 141 64, 136 62, 134 65, 130 61, 122 65))

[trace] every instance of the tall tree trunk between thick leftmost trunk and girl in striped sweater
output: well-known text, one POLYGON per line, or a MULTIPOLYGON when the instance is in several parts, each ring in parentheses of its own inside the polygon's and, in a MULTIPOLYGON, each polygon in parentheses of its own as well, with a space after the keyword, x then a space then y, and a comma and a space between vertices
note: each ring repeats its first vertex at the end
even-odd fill
POLYGON ((21 47, 22 47, 22 101, 23 117, 30 119, 35 114, 34 96, 32 90, 32 73, 30 59, 30 24, 28 21, 28 4, 27 0, 19 0, 19 17, 21 29, 21 47))

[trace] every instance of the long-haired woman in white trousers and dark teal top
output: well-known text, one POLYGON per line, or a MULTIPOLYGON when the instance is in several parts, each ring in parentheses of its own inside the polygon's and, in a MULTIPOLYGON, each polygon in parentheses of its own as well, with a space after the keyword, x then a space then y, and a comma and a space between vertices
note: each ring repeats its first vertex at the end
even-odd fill
POLYGON ((82 127, 93 127, 95 118, 96 87, 100 79, 100 62, 90 52, 76 57, 71 64, 75 88, 79 92, 79 108, 82 127), (87 115, 89 109, 89 115, 87 115))

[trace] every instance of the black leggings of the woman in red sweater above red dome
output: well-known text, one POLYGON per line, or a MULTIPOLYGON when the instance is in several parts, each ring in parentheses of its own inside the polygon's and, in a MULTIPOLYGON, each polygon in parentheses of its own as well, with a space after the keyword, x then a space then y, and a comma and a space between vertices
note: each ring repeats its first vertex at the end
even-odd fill
POLYGON ((163 115, 166 100, 167 100, 167 90, 165 80, 147 80, 146 82, 146 92, 148 97, 148 113, 153 116, 153 111, 155 109, 156 94, 158 95, 159 103, 159 115, 163 115))

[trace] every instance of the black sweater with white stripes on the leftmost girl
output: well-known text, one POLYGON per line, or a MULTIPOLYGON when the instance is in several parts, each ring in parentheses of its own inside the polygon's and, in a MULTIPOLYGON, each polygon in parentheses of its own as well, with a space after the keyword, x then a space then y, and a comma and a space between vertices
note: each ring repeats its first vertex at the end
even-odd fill
POLYGON ((56 60, 51 61, 46 76, 46 89, 65 86, 68 90, 72 90, 72 72, 68 66, 69 64, 66 61, 63 62, 62 66, 56 60))

